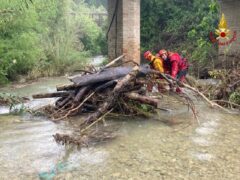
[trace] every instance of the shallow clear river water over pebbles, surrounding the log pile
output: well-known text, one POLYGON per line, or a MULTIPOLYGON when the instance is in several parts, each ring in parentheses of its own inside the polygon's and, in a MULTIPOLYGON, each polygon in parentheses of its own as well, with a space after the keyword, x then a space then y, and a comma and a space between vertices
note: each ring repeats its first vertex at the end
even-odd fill
MULTIPOLYGON (((27 96, 65 82, 50 78, 0 91, 27 96)), ((195 103, 199 125, 174 106, 153 119, 107 121, 119 127, 118 137, 81 150, 55 143, 53 134, 72 131, 67 123, 0 115, 0 179, 239 179, 240 116, 195 103)))

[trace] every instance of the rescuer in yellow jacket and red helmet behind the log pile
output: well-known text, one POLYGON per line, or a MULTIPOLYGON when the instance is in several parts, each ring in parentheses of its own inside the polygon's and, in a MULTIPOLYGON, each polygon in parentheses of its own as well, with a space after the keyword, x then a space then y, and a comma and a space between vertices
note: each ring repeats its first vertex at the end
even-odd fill
MULTIPOLYGON (((150 51, 146 51, 144 53, 144 58, 150 62, 150 67, 152 69, 157 70, 161 73, 164 73, 164 66, 163 66, 163 59, 162 58, 154 56, 150 51)), ((163 90, 165 90, 165 88, 163 88, 164 84, 162 84, 160 82, 158 83, 157 87, 158 87, 159 92, 162 92, 163 90)), ((147 84, 147 89, 150 92, 152 91, 153 84, 151 82, 149 84, 147 84)))

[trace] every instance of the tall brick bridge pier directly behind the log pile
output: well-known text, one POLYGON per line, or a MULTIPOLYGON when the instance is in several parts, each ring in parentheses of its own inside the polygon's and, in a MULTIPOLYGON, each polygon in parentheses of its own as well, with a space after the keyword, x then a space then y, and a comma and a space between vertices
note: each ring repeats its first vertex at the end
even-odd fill
POLYGON ((108 56, 140 64, 140 0, 108 0, 108 56))

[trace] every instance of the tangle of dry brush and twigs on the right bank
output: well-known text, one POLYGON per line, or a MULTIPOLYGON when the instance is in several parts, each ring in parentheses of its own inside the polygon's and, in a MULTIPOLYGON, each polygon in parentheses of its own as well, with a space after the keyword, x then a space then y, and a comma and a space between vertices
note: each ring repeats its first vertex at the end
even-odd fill
POLYGON ((212 79, 195 80, 188 77, 189 84, 212 102, 229 109, 240 109, 240 69, 215 69, 209 74, 212 79))

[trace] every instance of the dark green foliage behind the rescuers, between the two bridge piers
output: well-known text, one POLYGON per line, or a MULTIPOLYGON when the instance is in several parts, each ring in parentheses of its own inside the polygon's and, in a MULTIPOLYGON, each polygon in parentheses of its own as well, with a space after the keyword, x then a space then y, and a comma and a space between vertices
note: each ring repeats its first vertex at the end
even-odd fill
POLYGON ((165 48, 183 53, 194 64, 193 72, 199 72, 211 66, 216 55, 217 47, 210 42, 209 33, 215 31, 218 19, 215 0, 144 0, 142 51, 165 48))

